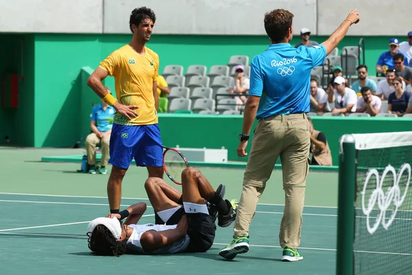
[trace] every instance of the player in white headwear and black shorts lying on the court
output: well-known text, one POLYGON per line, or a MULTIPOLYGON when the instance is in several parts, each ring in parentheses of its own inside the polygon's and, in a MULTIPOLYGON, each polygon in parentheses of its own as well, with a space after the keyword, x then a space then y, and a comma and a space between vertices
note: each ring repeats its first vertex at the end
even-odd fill
POLYGON ((215 192, 196 168, 183 171, 183 194, 158 177, 149 177, 145 188, 163 224, 137 225, 146 203, 133 204, 119 214, 108 214, 89 223, 90 250, 114 256, 206 252, 214 241, 216 215, 220 227, 227 227, 236 219, 235 201, 223 199, 225 186, 220 185, 215 192))

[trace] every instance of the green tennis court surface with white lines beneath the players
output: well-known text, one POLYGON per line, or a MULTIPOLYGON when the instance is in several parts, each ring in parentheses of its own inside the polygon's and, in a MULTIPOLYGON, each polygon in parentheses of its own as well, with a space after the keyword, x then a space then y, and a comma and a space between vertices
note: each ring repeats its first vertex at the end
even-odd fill
MULTIPOLYGON (((334 274, 338 174, 310 172, 300 252, 304 261, 281 262, 278 234, 284 191, 274 170, 260 199, 250 232, 251 250, 225 261, 218 252, 233 226, 218 228, 211 250, 198 254, 93 256, 87 248, 89 221, 108 212, 108 175, 76 173, 80 164, 40 162, 44 155, 78 155, 82 149, 1 147, 1 274, 334 274)), ((111 166, 108 167, 110 173, 111 166)), ((200 170, 216 188, 226 184, 229 199, 239 199, 243 169, 200 170)), ((145 168, 131 167, 124 179, 122 207, 146 201, 145 168)), ((165 179, 168 181, 167 177, 165 179)), ((171 181, 170 181, 171 182, 171 181)), ((177 186, 179 188, 179 186, 177 186)), ((148 203, 148 205, 150 205, 148 203)), ((154 221, 148 208, 142 223, 154 221)))

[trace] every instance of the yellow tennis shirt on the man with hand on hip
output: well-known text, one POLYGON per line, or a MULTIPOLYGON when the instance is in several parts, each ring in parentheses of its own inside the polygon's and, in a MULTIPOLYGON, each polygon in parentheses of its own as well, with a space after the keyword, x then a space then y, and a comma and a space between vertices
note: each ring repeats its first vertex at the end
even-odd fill
POLYGON ((137 54, 133 47, 124 45, 100 63, 100 68, 115 78, 117 100, 125 105, 137 105, 137 118, 130 120, 115 113, 114 123, 121 125, 149 125, 158 122, 153 98, 153 82, 159 72, 159 56, 144 47, 145 54, 137 54))

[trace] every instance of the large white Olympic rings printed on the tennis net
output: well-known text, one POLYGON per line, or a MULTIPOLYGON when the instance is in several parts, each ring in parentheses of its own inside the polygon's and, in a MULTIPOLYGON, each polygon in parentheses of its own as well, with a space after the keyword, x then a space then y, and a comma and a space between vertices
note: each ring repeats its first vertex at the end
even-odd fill
POLYGON ((379 223, 382 223, 382 227, 385 228, 385 230, 387 230, 389 226, 391 226, 393 220, 395 219, 396 212, 398 212, 398 208, 400 208, 405 197, 407 196, 407 191, 409 188, 410 180, 411 180, 411 165, 409 164, 402 164, 398 175, 396 173, 395 168, 393 168, 393 166, 391 165, 388 165, 385 168, 385 170, 382 173, 382 177, 379 177, 378 170, 376 169, 371 169, 367 172, 361 195, 362 195, 362 211, 363 211, 363 214, 366 215, 366 225, 367 225, 367 231, 369 232, 369 234, 374 234, 374 232, 378 229, 379 223), (401 197, 399 181, 403 173, 405 172, 405 170, 407 171, 408 180, 405 186, 405 190, 401 197), (382 185, 388 173, 392 173, 393 183, 388 188, 387 192, 383 192, 382 185), (367 208, 366 208, 365 195, 366 195, 366 190, 367 190, 367 184, 369 183, 369 179, 371 179, 372 176, 375 176, 376 188, 374 189, 371 196, 369 197, 369 201, 367 203, 367 208), (371 214, 372 210, 374 210, 376 203, 378 203, 378 208, 380 210, 380 213, 378 214, 378 217, 376 217, 374 224, 371 226, 370 221, 369 221, 370 220, 369 214, 371 214), (393 203, 393 206, 395 206, 395 209, 392 210, 391 217, 389 217, 388 219, 386 217, 386 212, 392 203, 393 203))

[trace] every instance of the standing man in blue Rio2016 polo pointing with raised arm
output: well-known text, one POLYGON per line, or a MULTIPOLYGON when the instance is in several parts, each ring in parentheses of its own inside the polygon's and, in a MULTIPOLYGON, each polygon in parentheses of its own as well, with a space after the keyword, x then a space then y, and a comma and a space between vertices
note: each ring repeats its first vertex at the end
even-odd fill
POLYGON ((219 252, 225 259, 249 251, 249 225, 279 156, 286 200, 280 232, 272 234, 279 235, 282 261, 303 259, 297 248, 309 168, 310 127, 306 113, 310 110, 310 72, 323 64, 350 25, 358 21, 358 12, 352 10, 327 41, 319 46, 296 49, 289 43, 293 38, 293 14, 282 9, 265 14, 264 28, 271 45, 251 63, 249 98, 244 108, 238 156, 247 155, 245 149, 253 120, 256 118, 259 122, 244 171, 233 241, 219 252))

